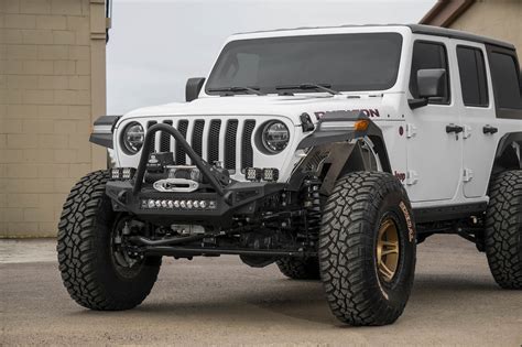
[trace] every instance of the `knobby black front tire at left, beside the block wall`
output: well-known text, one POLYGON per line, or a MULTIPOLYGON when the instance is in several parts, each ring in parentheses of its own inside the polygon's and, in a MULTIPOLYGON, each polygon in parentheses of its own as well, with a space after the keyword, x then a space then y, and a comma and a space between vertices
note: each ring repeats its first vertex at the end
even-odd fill
POLYGON ((117 218, 105 194, 106 171, 83 177, 70 191, 58 224, 62 280, 79 305, 99 311, 128 310, 149 295, 161 258, 145 258, 131 274, 116 269, 111 230, 117 218))

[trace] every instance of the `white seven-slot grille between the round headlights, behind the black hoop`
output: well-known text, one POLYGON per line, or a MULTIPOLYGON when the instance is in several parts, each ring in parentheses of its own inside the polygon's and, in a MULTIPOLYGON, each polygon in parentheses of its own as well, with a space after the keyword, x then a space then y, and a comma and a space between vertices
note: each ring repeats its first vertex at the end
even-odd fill
MULTIPOLYGON (((149 121, 146 128, 155 123, 149 121)), ((191 119, 164 120, 163 123, 175 127, 194 151, 210 164, 220 161, 232 173, 253 166, 253 119, 202 119, 195 116, 191 119)), ((156 152, 173 152, 176 165, 191 164, 183 148, 176 145, 170 134, 156 132, 153 143, 156 152)))

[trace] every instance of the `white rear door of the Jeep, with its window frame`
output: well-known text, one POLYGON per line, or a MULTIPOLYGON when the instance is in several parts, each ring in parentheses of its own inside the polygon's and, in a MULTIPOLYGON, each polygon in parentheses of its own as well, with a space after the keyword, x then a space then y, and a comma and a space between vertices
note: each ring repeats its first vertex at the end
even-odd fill
POLYGON ((456 108, 461 110, 463 181, 466 197, 486 195, 498 132, 492 101, 491 76, 483 45, 454 40, 458 65, 456 108), (491 131, 489 131, 491 130, 491 131))

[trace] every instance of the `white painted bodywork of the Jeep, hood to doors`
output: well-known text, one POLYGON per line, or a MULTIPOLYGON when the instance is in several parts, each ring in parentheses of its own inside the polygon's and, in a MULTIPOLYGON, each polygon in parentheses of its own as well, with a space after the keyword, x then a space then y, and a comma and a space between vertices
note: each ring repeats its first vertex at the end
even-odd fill
MULTIPOLYGON (((210 96, 205 94, 205 86, 199 98, 186 104, 168 104, 134 110, 120 119, 115 131, 115 150, 118 165, 137 166, 139 154, 128 155, 119 148, 120 132, 131 121, 139 121, 144 128, 150 120, 162 122, 172 120, 174 124, 180 119, 253 119, 257 121, 255 130, 267 120, 278 119, 283 121, 291 132, 287 148, 279 154, 268 155, 257 150, 252 140, 253 166, 278 167, 281 171, 280 181, 290 178, 292 170, 300 161, 301 153, 296 147, 309 133, 303 133, 300 116, 307 112, 330 110, 360 110, 372 109, 378 111, 371 120, 382 130, 392 173, 401 177, 410 195, 413 207, 431 207, 459 205, 475 202, 487 202, 487 186, 493 164, 494 152, 499 140, 511 131, 522 131, 522 121, 496 118, 494 101, 492 97, 491 76, 488 71, 488 86, 490 105, 487 108, 464 107, 458 66, 456 64, 455 47, 466 43, 483 48, 483 44, 458 42, 458 40, 413 35, 406 26, 359 26, 359 28, 328 28, 309 30, 274 31, 251 34, 238 34, 232 40, 314 35, 335 33, 360 32, 396 32, 403 37, 401 63, 398 79, 394 86, 387 90, 342 93, 330 96, 325 93, 295 94, 295 96, 255 96, 237 95, 231 97, 210 96), (445 44, 449 61, 450 104, 428 105, 411 110, 407 99, 410 68, 412 62, 412 47, 414 40, 428 40, 445 44), (357 97, 356 97, 357 96, 357 97), (463 133, 457 137, 446 133, 446 124, 465 124, 470 135, 463 139, 463 133), (496 126, 499 131, 493 135, 485 135, 481 131, 486 124, 496 126), (402 129, 401 129, 402 128, 402 129), (513 130, 515 129, 515 130, 513 130), (402 131, 401 131, 402 130, 402 131), (465 173, 472 177, 464 180, 465 173)), ((486 53, 486 52, 485 52, 486 53)), ((487 55, 485 54, 487 58, 487 55)), ((487 62, 487 61, 486 61, 487 62)), ((312 117, 317 122, 316 117, 312 117)), ((208 121, 206 122, 208 123, 208 121)), ((204 133, 208 133, 208 127, 204 133)), ((225 137, 221 128, 221 137, 225 137)), ((206 137, 204 137, 205 139, 206 137)), ((156 137, 156 141, 157 137, 156 137)), ((238 140, 239 141, 239 140, 238 140)), ((191 139, 188 139, 191 142, 191 139)), ((239 142, 238 142, 239 147, 239 142)), ((206 156, 206 144, 203 145, 203 156, 206 156)), ((237 162, 240 161, 239 151, 237 162)), ((220 159, 222 152, 220 153, 220 159)), ((187 162, 188 163, 188 162, 187 162)), ((244 181, 243 174, 236 171, 232 177, 244 181)))

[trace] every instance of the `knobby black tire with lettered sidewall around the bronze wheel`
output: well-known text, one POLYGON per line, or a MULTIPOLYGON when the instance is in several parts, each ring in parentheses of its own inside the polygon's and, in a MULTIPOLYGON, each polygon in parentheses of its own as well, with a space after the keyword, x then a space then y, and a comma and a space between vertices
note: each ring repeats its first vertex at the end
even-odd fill
POLYGON ((355 172, 328 197, 319 234, 319 269, 326 299, 341 322, 385 325, 402 314, 413 285, 415 224, 402 184, 391 174, 355 172), (399 256, 390 283, 380 279, 378 230, 396 225, 399 256))

